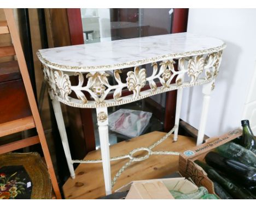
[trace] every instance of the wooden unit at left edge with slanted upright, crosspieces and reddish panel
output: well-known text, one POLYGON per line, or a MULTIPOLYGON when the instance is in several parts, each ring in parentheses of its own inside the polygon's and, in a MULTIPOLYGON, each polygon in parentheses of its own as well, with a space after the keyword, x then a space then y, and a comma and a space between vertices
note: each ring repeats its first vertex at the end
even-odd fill
POLYGON ((16 55, 17 60, 0 63, 0 137, 34 127, 36 127, 38 135, 1 145, 0 154, 40 143, 56 198, 61 199, 19 34, 16 29, 13 9, 4 9, 4 13, 7 21, 0 22, 0 34, 10 33, 13 45, 0 47, 0 57, 16 55))

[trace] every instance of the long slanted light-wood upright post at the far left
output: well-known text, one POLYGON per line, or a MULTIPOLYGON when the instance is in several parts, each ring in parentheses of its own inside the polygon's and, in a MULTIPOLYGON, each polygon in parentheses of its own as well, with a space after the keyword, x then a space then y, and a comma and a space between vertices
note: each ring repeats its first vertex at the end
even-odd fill
POLYGON ((36 99, 34 97, 32 85, 31 85, 31 81, 30 81, 30 76, 28 75, 27 64, 26 64, 26 60, 24 57, 24 53, 22 51, 20 36, 19 36, 18 30, 15 25, 13 9, 4 9, 4 14, 5 14, 5 17, 6 17, 6 20, 8 23, 8 27, 10 30, 11 40, 13 41, 13 45, 15 47, 16 57, 17 57, 17 60, 19 63, 21 76, 24 81, 28 102, 30 103, 31 112, 32 112, 32 115, 34 118, 34 123, 36 124, 37 133, 38 133, 38 136, 40 139, 43 154, 44 154, 47 168, 48 168, 48 171, 50 174, 51 182, 53 184, 53 189, 54 189, 56 198, 61 199, 59 185, 58 185, 57 178, 56 178, 56 175, 54 172, 53 163, 51 162, 51 156, 50 156, 50 152, 48 149, 48 145, 46 143, 44 129, 43 129, 43 125, 42 125, 40 115, 38 112, 36 99))

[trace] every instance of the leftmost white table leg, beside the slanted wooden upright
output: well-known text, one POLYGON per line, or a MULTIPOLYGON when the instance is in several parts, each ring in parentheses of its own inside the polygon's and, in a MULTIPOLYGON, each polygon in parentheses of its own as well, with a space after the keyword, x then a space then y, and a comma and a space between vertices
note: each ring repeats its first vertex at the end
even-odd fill
POLYGON ((54 114, 55 114, 55 118, 59 128, 61 142, 63 145, 65 156, 67 159, 68 169, 69 169, 71 178, 74 179, 75 178, 74 167, 73 167, 72 158, 71 158, 71 154, 68 146, 67 132, 66 132, 63 115, 61 111, 61 105, 60 105, 60 102, 55 99, 51 100, 51 102, 53 102, 54 114))

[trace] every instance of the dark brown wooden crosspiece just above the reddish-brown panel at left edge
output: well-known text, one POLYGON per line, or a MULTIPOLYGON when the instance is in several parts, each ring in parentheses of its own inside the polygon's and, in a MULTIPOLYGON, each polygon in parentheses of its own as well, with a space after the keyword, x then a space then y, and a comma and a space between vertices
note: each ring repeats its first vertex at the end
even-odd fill
POLYGON ((0 82, 7 82, 20 78, 21 74, 16 60, 0 63, 0 82))

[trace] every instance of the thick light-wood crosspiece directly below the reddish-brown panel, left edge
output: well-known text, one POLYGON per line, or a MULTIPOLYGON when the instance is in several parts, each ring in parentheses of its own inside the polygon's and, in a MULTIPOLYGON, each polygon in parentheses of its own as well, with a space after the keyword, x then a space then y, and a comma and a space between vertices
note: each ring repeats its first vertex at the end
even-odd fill
POLYGON ((7 123, 0 124, 0 137, 25 131, 36 127, 32 115, 30 117, 9 121, 7 123))

